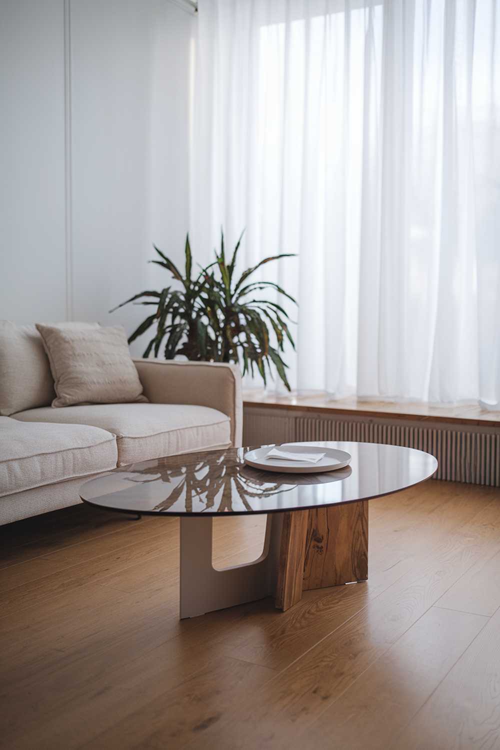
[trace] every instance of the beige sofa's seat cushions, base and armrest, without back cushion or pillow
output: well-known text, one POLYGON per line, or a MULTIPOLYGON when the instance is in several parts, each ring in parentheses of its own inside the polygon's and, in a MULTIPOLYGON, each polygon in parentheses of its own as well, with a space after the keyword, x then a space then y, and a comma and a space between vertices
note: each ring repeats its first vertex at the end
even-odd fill
POLYGON ((81 502, 82 482, 115 466, 241 446, 238 368, 134 363, 148 404, 46 404, 0 416, 0 525, 81 502))

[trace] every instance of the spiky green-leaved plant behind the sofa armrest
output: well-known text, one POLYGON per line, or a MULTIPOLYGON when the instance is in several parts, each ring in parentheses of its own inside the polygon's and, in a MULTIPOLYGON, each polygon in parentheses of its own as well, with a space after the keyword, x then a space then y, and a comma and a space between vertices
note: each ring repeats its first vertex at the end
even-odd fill
POLYGON ((197 274, 193 274, 189 235, 186 238, 184 275, 154 245, 158 258, 150 262, 169 271, 175 281, 179 282, 180 288, 169 286, 161 292, 140 292, 110 312, 130 302, 155 308, 128 340, 130 344, 154 326, 154 336, 145 349, 145 357, 151 352, 157 357, 164 342, 165 359, 174 359, 179 354, 191 360, 242 362, 243 374, 250 371, 254 375, 256 369, 264 383, 267 374, 272 377, 274 366, 286 388, 290 390, 286 378, 287 365, 281 357, 286 339, 295 349, 289 331, 289 315, 277 302, 254 299, 254 295, 264 290, 274 290, 295 305, 297 303, 278 284, 272 281, 250 281, 250 276, 265 263, 292 255, 280 254, 265 258, 244 271, 239 278, 235 278, 241 237, 227 263, 224 236, 221 233, 220 252, 214 251, 213 263, 197 274), (139 300, 142 301, 138 302, 139 300))

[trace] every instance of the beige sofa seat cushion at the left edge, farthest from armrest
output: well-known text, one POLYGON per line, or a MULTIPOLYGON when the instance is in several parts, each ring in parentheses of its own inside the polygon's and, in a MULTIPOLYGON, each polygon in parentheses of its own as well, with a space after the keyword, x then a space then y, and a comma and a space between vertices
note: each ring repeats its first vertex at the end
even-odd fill
POLYGON ((109 471, 117 459, 115 435, 99 428, 0 417, 0 496, 109 471))

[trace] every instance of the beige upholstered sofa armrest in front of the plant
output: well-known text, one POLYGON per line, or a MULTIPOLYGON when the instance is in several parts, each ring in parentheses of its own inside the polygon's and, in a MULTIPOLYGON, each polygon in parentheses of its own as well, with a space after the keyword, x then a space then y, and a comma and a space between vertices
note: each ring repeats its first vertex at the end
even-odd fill
POLYGON ((236 365, 174 359, 134 359, 133 362, 149 401, 217 409, 231 419, 232 445, 241 446, 243 401, 241 374, 236 365))

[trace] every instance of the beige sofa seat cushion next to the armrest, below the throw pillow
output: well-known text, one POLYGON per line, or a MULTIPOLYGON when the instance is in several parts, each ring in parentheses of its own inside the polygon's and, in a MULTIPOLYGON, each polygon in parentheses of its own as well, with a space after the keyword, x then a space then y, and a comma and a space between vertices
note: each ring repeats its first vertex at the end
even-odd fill
POLYGON ((179 453, 227 448, 229 417, 209 407, 183 404, 85 404, 31 409, 13 416, 23 422, 94 425, 116 435, 118 466, 179 453))

